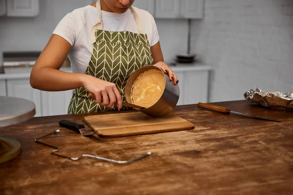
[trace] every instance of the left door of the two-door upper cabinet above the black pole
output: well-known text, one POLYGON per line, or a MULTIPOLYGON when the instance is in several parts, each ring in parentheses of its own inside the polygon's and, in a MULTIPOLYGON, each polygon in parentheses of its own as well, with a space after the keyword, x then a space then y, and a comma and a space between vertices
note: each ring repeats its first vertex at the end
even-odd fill
POLYGON ((181 0, 156 0, 156 19, 175 19, 180 17, 181 0))

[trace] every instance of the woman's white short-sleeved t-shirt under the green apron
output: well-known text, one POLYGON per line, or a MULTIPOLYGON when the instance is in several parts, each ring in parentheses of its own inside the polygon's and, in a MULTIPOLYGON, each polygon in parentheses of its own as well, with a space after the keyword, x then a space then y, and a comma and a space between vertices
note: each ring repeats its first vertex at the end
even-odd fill
MULTIPOLYGON (((153 16, 146 10, 133 8, 139 16, 150 46, 153 46, 159 41, 158 30, 153 16)), ((97 22, 98 13, 96 7, 87 5, 64 16, 53 31, 53 34, 63 37, 72 45, 68 58, 74 73, 85 73, 86 71, 93 51, 90 34, 93 25, 97 22)), ((123 14, 102 10, 102 22, 106 31, 139 33, 130 8, 123 14)))

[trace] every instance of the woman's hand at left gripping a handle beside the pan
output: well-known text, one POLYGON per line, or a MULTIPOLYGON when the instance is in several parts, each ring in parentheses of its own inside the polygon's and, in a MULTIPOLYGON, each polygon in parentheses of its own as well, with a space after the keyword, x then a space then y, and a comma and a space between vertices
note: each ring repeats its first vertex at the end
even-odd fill
POLYGON ((96 103, 110 108, 117 102, 118 110, 122 108, 122 97, 114 83, 84 75, 83 86, 95 95, 96 103))

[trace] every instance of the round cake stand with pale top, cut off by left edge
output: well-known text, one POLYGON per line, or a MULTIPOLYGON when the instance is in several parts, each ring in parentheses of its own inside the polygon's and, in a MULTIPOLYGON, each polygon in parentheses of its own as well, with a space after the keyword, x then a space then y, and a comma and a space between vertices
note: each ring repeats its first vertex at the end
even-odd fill
MULTIPOLYGON (((0 127, 21 123, 34 117, 34 102, 23 98, 0 96, 0 127)), ((21 154, 21 144, 11 137, 0 137, 0 163, 21 154)))

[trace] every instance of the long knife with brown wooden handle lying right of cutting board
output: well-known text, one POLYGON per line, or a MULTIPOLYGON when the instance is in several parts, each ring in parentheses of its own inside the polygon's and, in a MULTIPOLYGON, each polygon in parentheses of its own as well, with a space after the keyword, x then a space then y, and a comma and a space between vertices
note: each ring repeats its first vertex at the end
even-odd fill
POLYGON ((217 111, 217 112, 225 113, 225 114, 232 113, 232 114, 239 115, 239 116, 243 116, 243 117, 251 117, 251 118, 257 118, 257 119, 263 119, 263 120, 270 120, 270 121, 275 121, 275 122, 281 122, 279 120, 273 120, 273 119, 269 119, 269 118, 257 117, 257 116, 252 116, 252 115, 247 115, 247 114, 243 114, 243 113, 234 112, 234 111, 231 111, 230 108, 225 108, 225 107, 211 105, 211 104, 202 103, 202 102, 199 102, 197 104, 197 107, 205 108, 205 109, 208 109, 208 110, 213 110, 213 111, 217 111))

